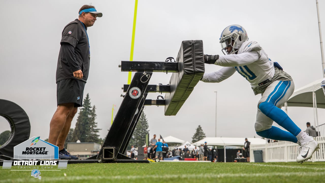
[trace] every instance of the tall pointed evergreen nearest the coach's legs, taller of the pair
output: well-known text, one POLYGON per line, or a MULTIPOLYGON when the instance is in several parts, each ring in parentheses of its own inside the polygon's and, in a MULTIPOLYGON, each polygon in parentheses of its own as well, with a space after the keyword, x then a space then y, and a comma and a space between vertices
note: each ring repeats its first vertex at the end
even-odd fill
POLYGON ((72 134, 72 142, 76 142, 77 140, 80 140, 80 142, 88 142, 87 138, 90 136, 89 122, 91 108, 89 93, 87 93, 83 102, 83 108, 80 109, 77 123, 72 134))

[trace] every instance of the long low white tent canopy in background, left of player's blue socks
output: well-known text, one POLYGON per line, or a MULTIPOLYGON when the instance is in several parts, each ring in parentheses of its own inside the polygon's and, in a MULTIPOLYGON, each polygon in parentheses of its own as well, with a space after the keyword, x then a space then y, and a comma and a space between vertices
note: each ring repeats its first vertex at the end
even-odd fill
MULTIPOLYGON (((262 138, 247 138, 251 144, 266 144, 266 139, 262 138)), ((192 145, 200 146, 201 144, 206 144, 208 146, 244 146, 245 138, 234 138, 234 137, 206 137, 199 140, 192 145)))

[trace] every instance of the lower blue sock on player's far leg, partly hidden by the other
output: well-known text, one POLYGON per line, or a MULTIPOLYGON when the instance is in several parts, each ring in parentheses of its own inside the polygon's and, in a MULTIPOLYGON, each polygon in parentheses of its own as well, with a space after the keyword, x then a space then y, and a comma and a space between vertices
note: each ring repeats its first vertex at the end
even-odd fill
POLYGON ((297 143, 297 138, 291 133, 281 130, 278 127, 272 126, 270 129, 256 132, 261 137, 270 138, 273 140, 284 140, 297 143))

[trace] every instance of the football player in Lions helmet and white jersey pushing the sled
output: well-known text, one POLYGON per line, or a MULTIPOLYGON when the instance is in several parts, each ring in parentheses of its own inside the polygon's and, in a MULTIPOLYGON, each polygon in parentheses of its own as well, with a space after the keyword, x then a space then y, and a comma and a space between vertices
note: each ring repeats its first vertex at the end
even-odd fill
POLYGON ((262 95, 257 105, 256 134, 298 143, 301 151, 296 161, 302 163, 310 159, 319 148, 317 141, 280 109, 294 91, 291 76, 283 71, 279 63, 271 61, 257 41, 249 40, 246 30, 240 25, 227 26, 220 35, 219 43, 224 55, 204 55, 204 63, 223 67, 216 72, 204 73, 201 80, 221 82, 237 71, 251 83, 255 95, 262 95), (273 121, 288 132, 272 126, 273 121))

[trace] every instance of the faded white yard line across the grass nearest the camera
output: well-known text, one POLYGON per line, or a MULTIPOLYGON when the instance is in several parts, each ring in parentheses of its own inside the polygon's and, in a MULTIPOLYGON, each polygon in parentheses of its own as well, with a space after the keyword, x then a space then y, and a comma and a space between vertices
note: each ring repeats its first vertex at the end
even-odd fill
MULTIPOLYGON (((324 176, 325 172, 290 172, 290 173, 259 173, 259 174, 179 174, 179 175, 141 175, 141 176, 61 176, 61 177, 46 177, 42 176, 42 179, 45 181, 54 181, 54 180, 62 180, 62 181, 73 181, 73 180, 94 180, 96 182, 97 179, 109 179, 109 180, 134 180, 134 179, 148 179, 148 178, 223 178, 223 177, 266 177, 266 176, 324 176)), ((14 175, 13 175, 14 176, 14 175)), ((38 182, 39 180, 36 178, 28 178, 28 176, 24 178, 11 178, 0 180, 2 182, 23 182, 25 183, 28 179, 28 182, 38 182)))

